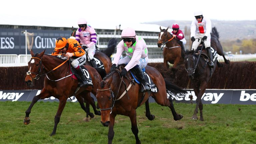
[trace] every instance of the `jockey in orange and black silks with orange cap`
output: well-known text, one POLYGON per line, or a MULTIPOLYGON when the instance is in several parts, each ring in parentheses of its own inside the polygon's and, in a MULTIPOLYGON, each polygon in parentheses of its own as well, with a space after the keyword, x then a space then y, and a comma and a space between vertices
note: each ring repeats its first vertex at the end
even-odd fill
POLYGON ((59 54, 60 52, 66 53, 65 56, 70 58, 70 60, 72 61, 72 66, 75 68, 75 70, 82 79, 80 87, 88 85, 88 79, 86 79, 80 67, 86 62, 86 55, 79 43, 75 39, 66 39, 64 37, 59 37, 56 40, 56 47, 52 52, 52 55, 59 54))

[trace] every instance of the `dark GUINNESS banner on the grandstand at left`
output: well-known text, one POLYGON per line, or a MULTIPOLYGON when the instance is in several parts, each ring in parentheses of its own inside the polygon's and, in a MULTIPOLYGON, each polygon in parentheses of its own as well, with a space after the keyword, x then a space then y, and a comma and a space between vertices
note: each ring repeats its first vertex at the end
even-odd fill
POLYGON ((60 30, 27 30, 27 41, 25 39, 25 29, 0 29, 0 54, 30 54, 46 50, 47 54, 53 52, 56 39, 60 36, 70 37, 71 31, 60 30))

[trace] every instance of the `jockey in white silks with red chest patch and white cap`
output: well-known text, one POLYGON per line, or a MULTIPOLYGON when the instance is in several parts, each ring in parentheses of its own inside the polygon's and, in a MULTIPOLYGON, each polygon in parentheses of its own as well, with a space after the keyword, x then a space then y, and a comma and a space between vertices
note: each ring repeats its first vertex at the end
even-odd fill
POLYGON ((198 11, 194 12, 195 19, 192 21, 190 29, 191 29, 191 41, 193 42, 192 48, 197 49, 201 41, 204 41, 204 46, 206 47, 208 56, 211 60, 210 67, 214 67, 212 51, 211 51, 211 29, 212 23, 210 19, 203 17, 203 12, 198 11), (195 40, 198 39, 198 40, 195 40))

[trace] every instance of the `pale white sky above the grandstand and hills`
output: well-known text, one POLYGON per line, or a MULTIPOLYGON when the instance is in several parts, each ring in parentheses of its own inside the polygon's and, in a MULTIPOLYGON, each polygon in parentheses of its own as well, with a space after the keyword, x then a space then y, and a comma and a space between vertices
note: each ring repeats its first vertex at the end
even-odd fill
POLYGON ((136 24, 163 20, 192 21, 193 13, 215 20, 256 20, 253 0, 4 0, 0 24, 77 27, 85 18, 91 25, 136 24))

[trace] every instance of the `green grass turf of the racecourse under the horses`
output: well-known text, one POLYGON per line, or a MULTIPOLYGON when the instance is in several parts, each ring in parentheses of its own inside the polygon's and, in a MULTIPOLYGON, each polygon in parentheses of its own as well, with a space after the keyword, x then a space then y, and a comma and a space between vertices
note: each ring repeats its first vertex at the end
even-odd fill
MULTIPOLYGON (((56 135, 49 136, 54 126, 57 102, 38 102, 30 114, 31 123, 23 124, 30 102, 0 102, 0 143, 37 144, 106 144, 108 127, 100 116, 83 121, 85 112, 78 103, 66 104, 56 135)), ((255 144, 256 106, 204 104, 203 122, 192 120, 195 104, 174 103, 184 115, 174 121, 168 107, 150 103, 155 120, 145 117, 145 106, 137 109, 137 125, 142 144, 255 144), (239 111, 238 108, 241 110, 239 111)), ((135 144, 128 117, 118 115, 113 144, 135 144)))

